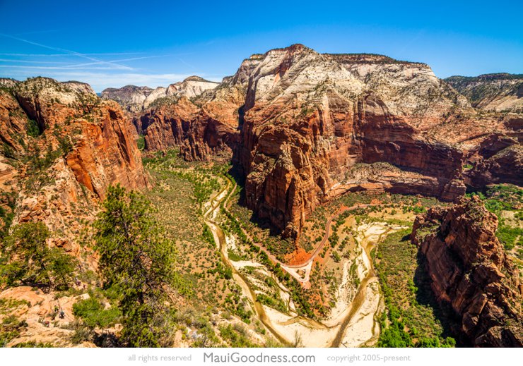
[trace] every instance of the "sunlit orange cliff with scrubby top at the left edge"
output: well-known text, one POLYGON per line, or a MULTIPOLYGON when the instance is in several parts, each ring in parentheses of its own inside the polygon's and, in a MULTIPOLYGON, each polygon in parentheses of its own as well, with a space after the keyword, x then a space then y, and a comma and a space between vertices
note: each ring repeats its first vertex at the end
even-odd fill
POLYGON ((134 127, 86 85, 33 78, 0 91, 0 126, 3 163, 18 171, 13 224, 43 221, 68 250, 110 184, 148 185, 134 127))

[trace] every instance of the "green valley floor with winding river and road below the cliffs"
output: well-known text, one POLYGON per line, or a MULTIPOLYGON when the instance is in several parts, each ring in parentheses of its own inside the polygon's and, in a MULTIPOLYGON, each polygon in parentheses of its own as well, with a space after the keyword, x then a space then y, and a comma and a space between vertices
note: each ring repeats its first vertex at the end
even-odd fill
MULTIPOLYGON (((149 195, 158 205, 158 218, 177 233, 187 278, 199 276, 193 279, 196 297, 202 307, 212 303, 218 317, 232 315, 242 320, 254 344, 273 338, 287 346, 377 346, 380 329, 387 327, 387 320, 382 319, 386 302, 403 307, 401 311, 411 318, 409 327, 416 327, 418 334, 445 343, 449 334, 442 324, 445 319, 433 308, 435 302, 416 300, 417 250, 404 236, 410 233, 416 213, 446 204, 401 195, 345 195, 320 207, 307 221, 298 245, 291 245, 242 205, 241 185, 227 173, 231 166, 187 163, 175 152, 160 156, 146 160, 146 167, 158 179, 158 188, 149 195), (212 193, 199 203, 199 209, 184 211, 183 202, 194 205, 194 200, 187 200, 190 193, 180 189, 180 182, 170 182, 172 177, 213 182, 212 193), (213 242, 186 245, 180 238, 182 226, 193 236, 185 240, 193 242, 207 226, 213 242), (388 245, 403 248, 387 251, 388 245), (380 278, 388 282, 389 277, 380 277, 376 265, 387 272, 382 263, 387 261, 401 266, 394 272, 403 274, 403 282, 387 286, 403 291, 403 298, 391 300, 384 295, 380 278), (218 276, 211 279, 208 269, 213 266, 225 276, 216 272, 218 276)), ((421 286, 428 296, 426 283, 421 286)))

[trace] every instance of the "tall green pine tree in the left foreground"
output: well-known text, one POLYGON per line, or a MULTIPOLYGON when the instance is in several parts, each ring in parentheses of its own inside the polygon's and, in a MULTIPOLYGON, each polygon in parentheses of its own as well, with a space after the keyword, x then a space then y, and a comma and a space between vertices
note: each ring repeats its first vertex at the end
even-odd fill
POLYGON ((163 346, 174 246, 143 195, 111 186, 103 208, 94 224, 95 248, 105 286, 122 293, 122 341, 134 347, 163 346))

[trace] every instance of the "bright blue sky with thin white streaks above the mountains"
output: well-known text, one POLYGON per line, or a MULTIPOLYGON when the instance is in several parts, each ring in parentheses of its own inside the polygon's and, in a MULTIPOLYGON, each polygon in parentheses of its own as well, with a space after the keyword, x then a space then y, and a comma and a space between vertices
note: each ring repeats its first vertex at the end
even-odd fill
POLYGON ((421 61, 440 78, 523 73, 523 1, 0 0, 0 77, 105 87, 221 80, 302 43, 421 61))

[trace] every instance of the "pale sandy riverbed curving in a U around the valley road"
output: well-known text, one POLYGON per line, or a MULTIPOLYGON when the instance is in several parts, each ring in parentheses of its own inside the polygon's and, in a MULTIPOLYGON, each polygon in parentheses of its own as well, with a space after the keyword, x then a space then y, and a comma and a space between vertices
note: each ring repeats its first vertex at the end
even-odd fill
MULTIPOLYGON (((215 202, 225 200, 227 191, 224 190, 216 197, 215 202)), ((215 219, 219 212, 218 205, 209 205, 207 212, 208 219, 215 219)), ((215 240, 218 243, 218 235, 215 224, 210 224, 211 230, 215 240)), ((355 248, 357 264, 357 276, 360 282, 358 291, 355 291, 353 282, 355 279, 351 278, 350 267, 353 260, 346 260, 343 263, 343 277, 340 281, 339 288, 336 291, 336 305, 331 311, 331 316, 322 322, 317 322, 312 319, 298 317, 293 312, 292 300, 288 290, 279 283, 271 272, 269 272, 263 264, 242 260, 230 261, 227 260, 236 272, 241 271, 244 267, 254 267, 257 272, 265 276, 271 276, 281 291, 282 299, 286 300, 290 310, 288 314, 274 310, 266 305, 255 303, 252 298, 252 291, 249 284, 244 279, 240 278, 238 274, 234 274, 233 278, 242 288, 242 293, 245 297, 251 299, 254 311, 257 316, 263 318, 264 324, 269 328, 277 338, 285 340, 289 344, 297 343, 298 346, 304 347, 357 347, 357 346, 372 346, 377 341, 379 336, 379 326, 377 324, 377 315, 382 311, 383 305, 380 298, 380 286, 377 276, 372 265, 372 258, 370 257, 370 250, 377 243, 382 236, 401 227, 392 227, 384 222, 372 222, 368 224, 361 224, 356 228, 357 247, 355 248)), ((224 238, 225 239, 225 238, 224 238)), ((223 253, 227 253, 227 249, 234 249, 236 243, 232 238, 223 240, 226 248, 223 248, 223 253)), ((225 254, 226 255, 226 254, 225 254)), ((310 263, 312 264, 312 262, 310 263)), ((299 275, 295 273, 294 269, 285 268, 288 273, 295 278, 299 275)), ((242 275, 249 279, 250 282, 260 285, 259 279, 254 279, 248 274, 242 275)), ((303 281, 302 278, 300 278, 303 281)), ((259 286, 262 287, 262 286, 259 286)), ((259 293, 257 289, 256 293, 259 293)))

